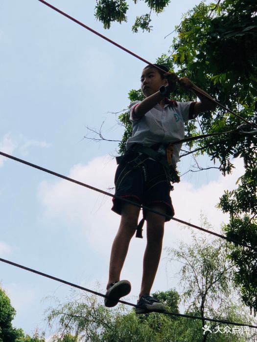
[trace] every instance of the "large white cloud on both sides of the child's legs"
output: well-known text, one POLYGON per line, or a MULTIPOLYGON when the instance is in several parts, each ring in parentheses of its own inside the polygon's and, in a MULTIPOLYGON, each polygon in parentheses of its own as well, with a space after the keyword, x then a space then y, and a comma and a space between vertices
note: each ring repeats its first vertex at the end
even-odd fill
MULTIPOLYGON (((176 212, 175 217, 199 225, 200 214, 203 211, 209 222, 215 227, 215 231, 219 232, 220 224, 228 220, 228 215, 217 210, 215 205, 225 189, 233 189, 235 181, 243 172, 241 160, 235 160, 234 165, 236 169, 232 175, 226 177, 220 175, 217 181, 210 181, 198 188, 189 182, 176 184, 175 191, 171 193, 176 212)), ((109 156, 98 157, 87 165, 75 165, 70 170, 69 177, 106 190, 113 186, 116 167, 115 161, 111 160, 109 156)), ((71 227, 67 228, 65 234, 74 235, 74 231, 82 232, 85 238, 85 248, 89 246, 96 255, 102 256, 104 262, 109 260, 112 242, 119 225, 119 216, 111 211, 111 198, 65 180, 57 180, 54 182, 43 181, 39 186, 38 199, 43 204, 46 220, 54 218, 57 220, 56 226, 71 227)), ((142 258, 146 244, 145 226, 144 239, 132 239, 124 271, 122 271, 123 276, 130 279, 134 289, 140 288, 142 258)), ((164 247, 174 246, 181 240, 190 242, 190 232, 187 229, 181 229, 175 221, 167 222, 164 247)), ((165 252, 163 253, 164 257, 165 252)), ((172 272, 175 273, 178 265, 174 263, 171 267, 172 272)), ((170 274, 169 267, 168 270, 170 274)), ((96 266, 95 275, 92 276, 104 284, 107 272, 106 269, 105 274, 99 275, 96 266)), ((166 259, 164 258, 161 261, 154 288, 168 289, 175 286, 175 280, 167 278, 166 259)), ((133 295, 137 295, 137 293, 133 293, 133 295)))

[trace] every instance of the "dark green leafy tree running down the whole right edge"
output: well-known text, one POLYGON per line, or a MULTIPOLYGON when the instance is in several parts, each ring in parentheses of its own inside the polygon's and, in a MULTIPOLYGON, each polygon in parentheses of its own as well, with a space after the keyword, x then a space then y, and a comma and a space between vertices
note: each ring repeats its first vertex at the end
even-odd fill
MULTIPOLYGON (((223 105, 250 122, 256 123, 254 104, 257 100, 257 3, 224 0, 217 4, 201 3, 187 13, 177 28, 173 41, 173 63, 185 68, 187 76, 206 89, 223 105)), ((203 132, 223 132, 242 124, 239 119, 217 109, 201 117, 203 132)), ((253 129, 253 128, 252 128, 253 129)), ((196 134, 196 129, 190 129, 196 134)), ((207 138, 195 145, 205 149, 212 160, 219 160, 220 171, 232 171, 234 157, 244 161, 245 173, 237 188, 226 191, 219 208, 230 214, 225 227, 227 235, 257 247, 257 135, 207 138)), ((197 153, 203 153, 203 150, 197 153)), ((241 289, 242 299, 257 308, 256 252, 234 246, 230 254, 238 271, 234 280, 241 289), (248 256, 248 257, 246 257, 248 256)))

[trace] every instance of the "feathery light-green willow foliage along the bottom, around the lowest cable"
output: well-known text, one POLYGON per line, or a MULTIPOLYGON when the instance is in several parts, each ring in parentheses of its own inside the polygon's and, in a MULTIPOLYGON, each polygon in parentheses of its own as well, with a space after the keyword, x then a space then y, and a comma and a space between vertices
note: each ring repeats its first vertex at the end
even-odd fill
MULTIPOLYGON (((211 229, 204 216, 202 225, 211 229)), ((152 296, 164 302, 166 310, 172 313, 179 313, 181 297, 187 306, 186 314, 200 316, 203 321, 159 313, 136 315, 134 309, 122 304, 109 309, 94 296, 83 293, 68 303, 49 308, 48 322, 57 322, 53 341, 64 342, 63 334, 74 334, 75 342, 227 342, 228 338, 230 342, 254 341, 257 337, 254 329, 249 330, 248 336, 246 333, 232 333, 234 326, 204 320, 204 317, 211 317, 254 324, 245 307, 235 299, 231 281, 233 264, 231 259, 227 259, 227 243, 220 239, 207 240, 206 235, 199 236, 192 231, 191 235, 191 245, 181 243, 176 249, 167 249, 170 259, 182 263, 179 273, 183 289, 181 296, 173 289, 156 292, 152 296), (212 333, 203 335, 205 324, 212 333), (216 331, 218 326, 221 329, 219 333, 216 331), (225 328, 228 333, 223 332, 225 328)))

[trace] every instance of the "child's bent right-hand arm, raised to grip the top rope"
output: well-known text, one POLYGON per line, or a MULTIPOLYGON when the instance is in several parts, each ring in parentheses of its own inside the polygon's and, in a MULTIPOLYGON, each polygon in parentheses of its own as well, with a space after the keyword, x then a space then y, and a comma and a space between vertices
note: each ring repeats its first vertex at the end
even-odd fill
POLYGON ((187 77, 182 77, 181 79, 179 79, 178 83, 183 89, 191 90, 200 99, 200 102, 196 102, 194 106, 194 115, 197 115, 207 110, 215 109, 216 105, 210 100, 208 100, 208 98, 212 99, 212 97, 208 93, 200 89, 198 86, 196 86, 187 77), (194 89, 191 89, 192 87, 194 87, 194 89), (204 93, 206 97, 203 96, 200 92, 198 92, 198 90, 201 91, 201 93, 204 93))

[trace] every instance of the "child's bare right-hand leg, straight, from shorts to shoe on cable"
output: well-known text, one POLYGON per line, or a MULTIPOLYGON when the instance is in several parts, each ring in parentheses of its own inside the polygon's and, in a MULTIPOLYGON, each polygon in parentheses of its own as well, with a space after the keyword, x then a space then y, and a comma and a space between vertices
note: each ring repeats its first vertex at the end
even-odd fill
MULTIPOLYGON (((166 208, 162 204, 152 208, 160 213, 166 213, 166 208)), ((162 254, 164 222, 164 216, 147 213, 147 245, 143 258, 143 276, 139 298, 144 294, 150 294, 153 286, 162 254)))

